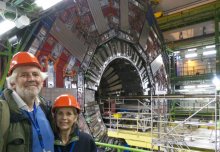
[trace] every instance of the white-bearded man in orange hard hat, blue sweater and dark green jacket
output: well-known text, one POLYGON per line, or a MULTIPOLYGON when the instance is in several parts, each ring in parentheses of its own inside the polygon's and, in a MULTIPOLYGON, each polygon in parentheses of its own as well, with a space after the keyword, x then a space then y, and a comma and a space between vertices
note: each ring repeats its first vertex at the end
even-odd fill
MULTIPOLYGON (((28 52, 12 57, 8 71, 8 88, 1 102, 7 102, 9 127, 3 133, 0 125, 1 152, 53 152, 54 135, 46 117, 47 102, 38 94, 47 75, 41 71, 37 58, 28 52)), ((0 104, 0 124, 4 109, 0 104)), ((5 118, 6 119, 6 118, 5 118)))

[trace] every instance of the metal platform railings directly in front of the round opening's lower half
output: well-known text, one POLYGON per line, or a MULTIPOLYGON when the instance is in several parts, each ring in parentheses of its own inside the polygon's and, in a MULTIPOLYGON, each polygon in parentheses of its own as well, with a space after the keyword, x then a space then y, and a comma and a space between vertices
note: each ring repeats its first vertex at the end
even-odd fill
MULTIPOLYGON (((151 113, 150 106, 139 99, 123 99, 106 101, 108 107, 102 107, 102 118, 105 125, 109 128, 118 129, 133 129, 146 131, 151 129, 151 113), (133 102, 136 107, 116 107, 116 105, 125 105, 125 101, 133 102), (113 101, 113 102, 111 102, 113 101), (112 104, 114 106, 112 106, 112 104), (126 109, 126 110, 125 110, 126 109)), ((105 102, 105 101, 102 101, 105 102)), ((104 104, 105 105, 105 104, 104 104)), ((158 109, 153 109, 157 111, 158 109)))

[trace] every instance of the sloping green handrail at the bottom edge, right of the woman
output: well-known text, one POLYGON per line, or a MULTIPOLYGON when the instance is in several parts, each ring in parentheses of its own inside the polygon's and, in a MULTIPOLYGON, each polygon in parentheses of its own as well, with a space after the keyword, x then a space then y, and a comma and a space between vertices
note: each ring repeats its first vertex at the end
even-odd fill
MULTIPOLYGON (((96 142, 97 147, 103 147, 103 148, 113 148, 116 149, 117 152, 123 152, 124 150, 128 150, 130 152, 150 152, 148 150, 143 150, 143 149, 136 149, 136 148, 130 148, 130 147, 125 147, 125 146, 120 146, 120 145, 113 145, 113 144, 106 144, 106 143, 101 143, 101 142, 96 142)), ((101 150, 99 150, 101 151, 101 150)))

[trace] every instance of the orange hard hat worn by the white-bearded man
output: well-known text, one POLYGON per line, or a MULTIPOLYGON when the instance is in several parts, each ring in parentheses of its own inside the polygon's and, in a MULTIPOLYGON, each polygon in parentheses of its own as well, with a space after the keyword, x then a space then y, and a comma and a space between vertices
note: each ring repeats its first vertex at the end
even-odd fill
POLYGON ((33 54, 29 52, 18 52, 12 57, 8 75, 11 75, 15 68, 23 65, 33 65, 41 69, 40 63, 33 54))

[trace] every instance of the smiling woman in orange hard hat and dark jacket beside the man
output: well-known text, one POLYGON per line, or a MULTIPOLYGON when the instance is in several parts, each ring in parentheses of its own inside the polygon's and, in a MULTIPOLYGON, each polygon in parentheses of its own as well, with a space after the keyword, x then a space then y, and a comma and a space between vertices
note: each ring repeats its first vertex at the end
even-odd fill
POLYGON ((52 107, 55 121, 55 152, 97 152, 92 137, 79 131, 79 113, 80 106, 74 96, 63 94, 55 99, 52 107))

